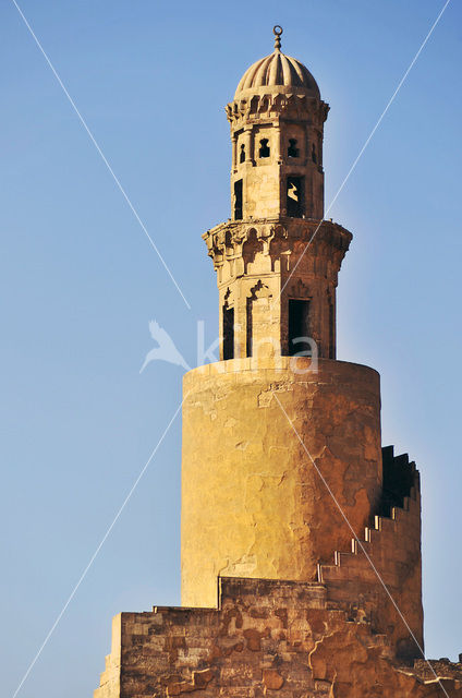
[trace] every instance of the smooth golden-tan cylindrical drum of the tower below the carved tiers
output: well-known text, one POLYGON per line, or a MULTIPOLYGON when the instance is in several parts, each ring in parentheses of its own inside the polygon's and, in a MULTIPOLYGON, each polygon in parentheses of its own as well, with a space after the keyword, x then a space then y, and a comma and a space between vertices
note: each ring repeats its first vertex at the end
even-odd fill
POLYGON ((216 604, 218 576, 315 579, 348 550, 381 494, 379 376, 280 357, 224 361, 184 377, 182 603, 216 604), (280 400, 287 416, 281 410, 280 400))

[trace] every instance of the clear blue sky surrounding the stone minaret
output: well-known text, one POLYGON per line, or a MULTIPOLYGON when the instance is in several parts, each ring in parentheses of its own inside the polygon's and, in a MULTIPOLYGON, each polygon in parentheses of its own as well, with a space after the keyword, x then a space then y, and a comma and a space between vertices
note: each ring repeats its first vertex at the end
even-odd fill
MULTIPOLYGON (((139 368, 168 329, 192 365, 217 332, 200 234, 228 218, 223 106, 283 50, 331 111, 336 194, 443 2, 23 0, 21 8, 178 279, 177 292, 10 0, 0 8, 3 694, 12 696, 178 408, 182 370, 139 368)), ((417 461, 426 649, 462 651, 462 10, 449 4, 329 216, 354 240, 339 358, 382 380, 384 443, 417 461)), ((121 610, 180 601, 177 420, 19 695, 90 695, 121 610), (72 681, 70 681, 72 677, 72 681), (51 679, 51 681, 50 681, 51 679)))

